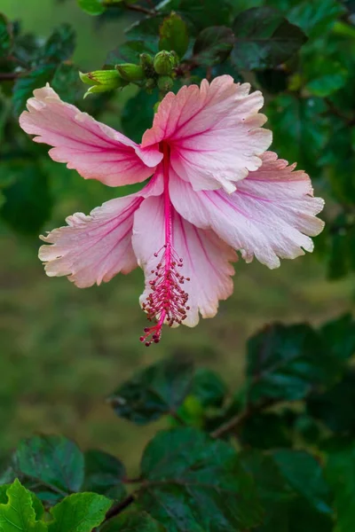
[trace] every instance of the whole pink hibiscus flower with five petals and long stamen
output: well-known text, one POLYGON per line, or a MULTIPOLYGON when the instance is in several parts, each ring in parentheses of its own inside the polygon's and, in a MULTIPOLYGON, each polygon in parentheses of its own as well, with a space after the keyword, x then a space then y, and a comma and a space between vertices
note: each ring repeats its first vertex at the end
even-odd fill
POLYGON ((42 237, 49 276, 76 286, 109 281, 138 265, 141 306, 153 322, 140 340, 161 339, 162 325, 197 325, 233 292, 235 250, 269 268, 312 251, 323 200, 310 178, 275 153, 262 126, 263 97, 224 75, 169 93, 137 145, 62 100, 35 90, 20 126, 53 146, 53 160, 109 186, 151 180, 138 193, 75 213, 42 237))

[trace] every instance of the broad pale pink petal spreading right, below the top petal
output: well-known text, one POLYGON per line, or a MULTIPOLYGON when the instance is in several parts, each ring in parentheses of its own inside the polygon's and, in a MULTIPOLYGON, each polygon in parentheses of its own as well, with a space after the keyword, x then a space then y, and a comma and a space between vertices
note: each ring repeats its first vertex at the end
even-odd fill
POLYGON ((324 206, 313 198, 312 184, 303 170, 294 171, 276 153, 264 153, 263 165, 238 184, 233 194, 193 192, 176 175, 170 176, 171 200, 180 215, 201 228, 211 228, 250 262, 253 256, 269 268, 280 258, 294 259, 312 252, 309 236, 322 231, 316 217, 324 206), (308 235, 308 236, 307 236, 308 235), (279 258, 280 257, 280 258, 279 258))

